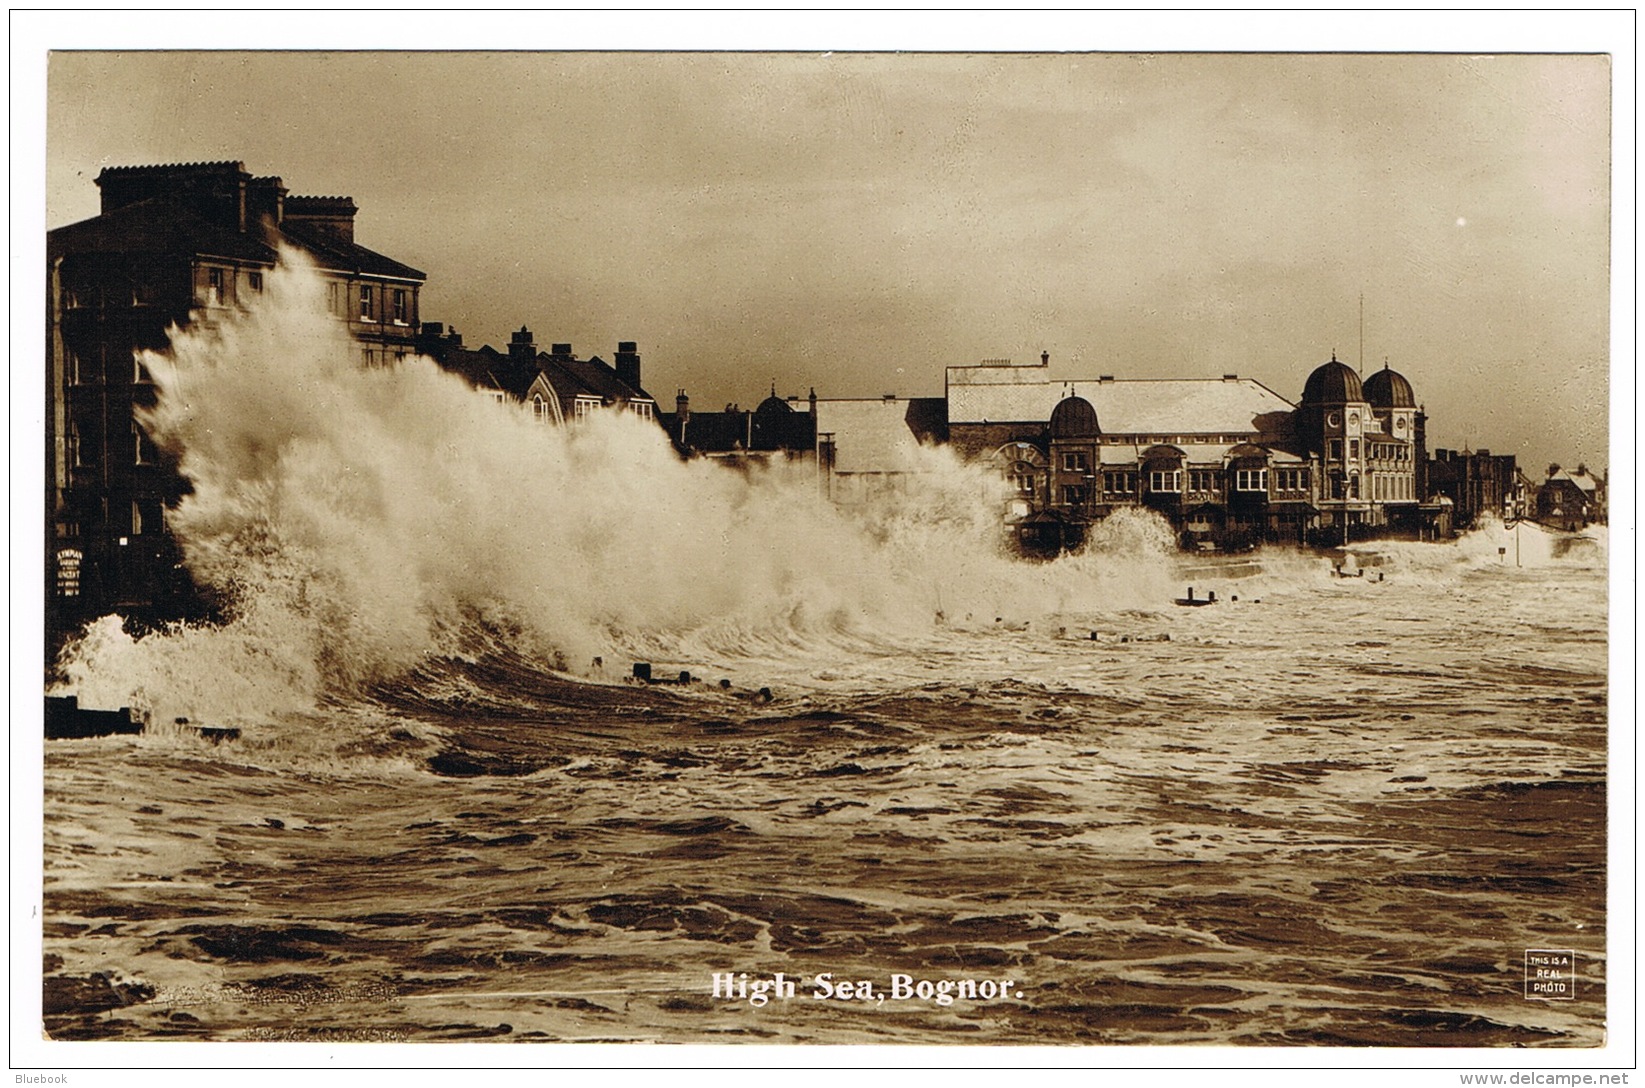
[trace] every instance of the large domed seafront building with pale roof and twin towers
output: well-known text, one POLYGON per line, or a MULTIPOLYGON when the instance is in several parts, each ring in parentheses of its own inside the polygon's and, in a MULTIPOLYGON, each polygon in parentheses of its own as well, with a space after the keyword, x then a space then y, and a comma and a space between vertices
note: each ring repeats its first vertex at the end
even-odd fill
POLYGON ((1316 367, 1301 403, 1262 382, 1051 380, 1038 364, 948 367, 948 435, 1012 482, 1007 520, 1031 551, 1079 543, 1127 507, 1165 515, 1184 543, 1346 540, 1420 530, 1425 418, 1410 382, 1316 367))

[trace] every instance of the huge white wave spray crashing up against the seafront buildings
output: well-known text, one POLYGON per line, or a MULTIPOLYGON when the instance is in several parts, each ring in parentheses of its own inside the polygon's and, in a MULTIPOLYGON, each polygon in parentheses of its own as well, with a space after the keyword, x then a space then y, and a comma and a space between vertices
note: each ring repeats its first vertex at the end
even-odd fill
POLYGON ((842 512, 814 464, 679 461, 628 413, 538 425, 426 359, 365 369, 288 255, 260 305, 145 357, 145 425, 192 494, 171 514, 230 622, 64 657, 87 704, 262 718, 503 639, 544 667, 668 647, 915 637, 936 612, 1030 617, 1158 599, 1170 535, 1115 520, 1050 565, 1003 553, 1003 495, 946 449, 842 512))

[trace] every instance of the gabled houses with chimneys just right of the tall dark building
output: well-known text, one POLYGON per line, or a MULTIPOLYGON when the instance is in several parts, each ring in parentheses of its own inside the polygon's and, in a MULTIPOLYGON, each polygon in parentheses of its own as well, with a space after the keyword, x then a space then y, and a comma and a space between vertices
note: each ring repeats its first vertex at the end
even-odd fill
POLYGON ((500 352, 489 344, 464 347, 456 329, 429 321, 418 352, 497 400, 523 405, 543 423, 582 420, 605 410, 660 421, 656 400, 640 384, 635 341, 619 341, 614 362, 599 356, 579 359, 571 344, 538 351, 531 329, 520 326, 508 337, 508 351, 500 352))

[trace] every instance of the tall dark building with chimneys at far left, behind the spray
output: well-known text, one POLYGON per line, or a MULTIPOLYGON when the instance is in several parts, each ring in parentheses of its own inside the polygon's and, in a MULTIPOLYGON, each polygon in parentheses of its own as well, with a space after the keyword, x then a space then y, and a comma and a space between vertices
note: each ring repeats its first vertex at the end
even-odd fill
POLYGON ((138 420, 156 395, 138 351, 250 306, 286 245, 319 268, 362 362, 392 364, 415 351, 424 281, 354 242, 350 198, 290 196, 237 161, 110 166, 97 186, 95 217, 46 235, 48 647, 107 612, 202 609, 166 528, 186 484, 138 420))

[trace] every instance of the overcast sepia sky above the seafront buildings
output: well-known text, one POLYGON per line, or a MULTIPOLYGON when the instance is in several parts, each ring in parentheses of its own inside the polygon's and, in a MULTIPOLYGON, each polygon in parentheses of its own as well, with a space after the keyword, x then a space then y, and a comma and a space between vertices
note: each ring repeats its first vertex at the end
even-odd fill
POLYGON ((110 165, 347 194, 469 344, 640 342, 673 405, 943 367, 1387 359, 1430 446, 1609 464, 1610 63, 1456 54, 56 53, 48 226, 110 165), (1364 296, 1364 354, 1360 354, 1364 296))

